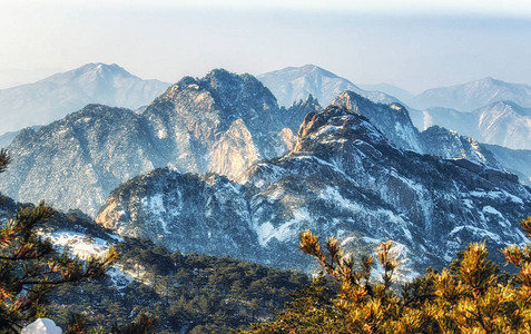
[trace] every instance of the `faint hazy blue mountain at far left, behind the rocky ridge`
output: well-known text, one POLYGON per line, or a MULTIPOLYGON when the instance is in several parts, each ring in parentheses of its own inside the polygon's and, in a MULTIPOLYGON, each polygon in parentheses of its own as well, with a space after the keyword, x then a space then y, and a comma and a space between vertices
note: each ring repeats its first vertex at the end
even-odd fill
POLYGON ((0 134, 48 124, 87 104, 137 108, 168 86, 142 80, 115 63, 88 63, 35 84, 1 89, 0 134))

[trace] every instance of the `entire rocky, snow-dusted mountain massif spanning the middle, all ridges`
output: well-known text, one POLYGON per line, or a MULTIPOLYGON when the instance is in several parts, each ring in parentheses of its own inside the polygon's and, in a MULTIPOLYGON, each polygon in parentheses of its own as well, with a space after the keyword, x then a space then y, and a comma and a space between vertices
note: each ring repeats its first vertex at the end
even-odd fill
POLYGON ((141 111, 88 105, 8 149, 0 187, 19 202, 79 208, 173 250, 281 267, 312 267, 296 245, 311 228, 352 252, 393 239, 409 261, 401 275, 414 275, 470 240, 523 242, 518 220, 531 209, 515 154, 421 132, 404 105, 350 90, 324 110, 312 95, 286 109, 255 77, 223 69, 183 78, 141 111))

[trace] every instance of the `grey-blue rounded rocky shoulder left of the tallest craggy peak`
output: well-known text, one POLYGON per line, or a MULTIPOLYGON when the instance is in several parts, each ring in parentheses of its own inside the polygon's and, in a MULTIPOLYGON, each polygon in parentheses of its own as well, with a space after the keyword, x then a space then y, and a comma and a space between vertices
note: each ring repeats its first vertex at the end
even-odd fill
POLYGON ((140 115, 89 105, 38 131, 22 130, 8 147, 13 160, 1 191, 94 214, 117 185, 155 167, 160 154, 150 137, 140 115))

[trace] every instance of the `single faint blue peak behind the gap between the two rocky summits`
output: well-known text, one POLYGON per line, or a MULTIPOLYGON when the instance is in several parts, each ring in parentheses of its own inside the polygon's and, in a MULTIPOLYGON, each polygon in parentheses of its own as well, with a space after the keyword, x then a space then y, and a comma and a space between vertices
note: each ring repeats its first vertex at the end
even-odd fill
POLYGON ((257 76, 276 96, 281 106, 305 99, 308 94, 314 96, 322 106, 328 106, 344 90, 352 90, 375 102, 391 104, 397 100, 381 91, 365 91, 351 81, 341 78, 315 65, 287 67, 281 70, 257 76))

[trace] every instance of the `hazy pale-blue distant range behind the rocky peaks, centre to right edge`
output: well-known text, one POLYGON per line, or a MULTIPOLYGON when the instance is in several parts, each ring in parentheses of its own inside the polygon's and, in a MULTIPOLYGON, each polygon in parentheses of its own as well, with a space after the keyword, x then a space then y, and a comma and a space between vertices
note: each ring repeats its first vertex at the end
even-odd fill
POLYGON ((413 96, 387 84, 364 85, 367 90, 363 90, 313 65, 288 67, 258 79, 281 105, 291 106, 311 94, 327 106, 337 95, 350 90, 374 102, 407 106, 411 120, 421 131, 440 126, 481 143, 531 149, 531 87, 527 85, 484 78, 413 96))

